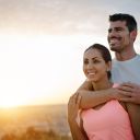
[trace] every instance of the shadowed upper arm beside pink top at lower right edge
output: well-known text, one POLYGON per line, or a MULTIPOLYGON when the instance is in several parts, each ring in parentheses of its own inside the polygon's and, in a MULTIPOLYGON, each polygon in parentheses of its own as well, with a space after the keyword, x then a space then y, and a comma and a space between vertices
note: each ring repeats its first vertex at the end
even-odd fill
POLYGON ((127 110, 130 117, 136 140, 140 140, 140 105, 127 103, 127 110))

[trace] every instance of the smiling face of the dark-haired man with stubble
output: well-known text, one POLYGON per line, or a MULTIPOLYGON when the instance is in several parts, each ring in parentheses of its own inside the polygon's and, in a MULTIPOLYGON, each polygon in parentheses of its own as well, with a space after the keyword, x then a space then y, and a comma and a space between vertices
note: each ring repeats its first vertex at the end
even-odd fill
POLYGON ((130 46, 130 33, 125 21, 110 22, 108 28, 108 44, 113 51, 120 52, 130 46))

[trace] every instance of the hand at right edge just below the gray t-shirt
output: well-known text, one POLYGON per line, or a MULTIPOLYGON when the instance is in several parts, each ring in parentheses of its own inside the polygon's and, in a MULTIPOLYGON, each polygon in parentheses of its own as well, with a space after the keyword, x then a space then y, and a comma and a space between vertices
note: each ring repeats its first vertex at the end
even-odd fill
POLYGON ((122 83, 118 86, 120 94, 125 97, 120 98, 122 102, 131 102, 135 104, 140 104, 140 85, 131 82, 122 83))

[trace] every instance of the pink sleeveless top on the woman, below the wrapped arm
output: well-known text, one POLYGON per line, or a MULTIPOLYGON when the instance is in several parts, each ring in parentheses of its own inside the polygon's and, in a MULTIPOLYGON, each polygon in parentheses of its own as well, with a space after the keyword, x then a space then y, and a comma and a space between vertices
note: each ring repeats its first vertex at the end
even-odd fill
POLYGON ((116 100, 83 110, 81 117, 89 140, 135 140, 128 113, 116 100))

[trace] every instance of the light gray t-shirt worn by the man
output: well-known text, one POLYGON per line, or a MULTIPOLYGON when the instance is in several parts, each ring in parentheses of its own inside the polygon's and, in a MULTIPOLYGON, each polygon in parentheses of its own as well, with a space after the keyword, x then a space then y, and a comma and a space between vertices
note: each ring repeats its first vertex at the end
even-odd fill
POLYGON ((112 79, 114 83, 132 82, 140 84, 140 55, 130 60, 113 60, 112 79))

